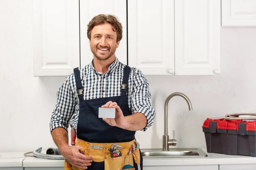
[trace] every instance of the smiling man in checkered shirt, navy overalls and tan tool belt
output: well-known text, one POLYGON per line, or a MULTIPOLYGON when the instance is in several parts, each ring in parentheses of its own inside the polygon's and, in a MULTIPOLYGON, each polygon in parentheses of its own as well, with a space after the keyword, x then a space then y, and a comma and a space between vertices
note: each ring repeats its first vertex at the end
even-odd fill
POLYGON ((66 77, 57 92, 50 130, 65 157, 65 170, 143 169, 137 130, 147 130, 155 111, 148 81, 137 68, 115 56, 122 25, 113 15, 99 14, 87 25, 93 60, 66 77), (115 108, 115 118, 99 118, 99 108, 115 108), (68 144, 68 125, 76 145, 68 144), (82 154, 81 154, 82 153, 82 154))

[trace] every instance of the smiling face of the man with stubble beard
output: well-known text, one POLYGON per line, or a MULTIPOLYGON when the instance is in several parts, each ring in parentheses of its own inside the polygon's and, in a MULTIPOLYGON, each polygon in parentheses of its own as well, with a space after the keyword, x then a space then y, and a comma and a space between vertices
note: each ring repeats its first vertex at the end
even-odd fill
POLYGON ((116 42, 117 34, 111 24, 94 26, 89 40, 93 55, 99 60, 106 60, 115 56, 119 42, 116 42))

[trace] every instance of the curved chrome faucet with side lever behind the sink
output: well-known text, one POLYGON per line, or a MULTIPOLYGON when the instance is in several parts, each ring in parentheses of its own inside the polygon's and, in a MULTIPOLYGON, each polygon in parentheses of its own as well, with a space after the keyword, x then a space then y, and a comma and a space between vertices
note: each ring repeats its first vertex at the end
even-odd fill
POLYGON ((192 111, 192 105, 191 105, 191 102, 189 100, 189 98, 185 95, 185 94, 182 94, 182 93, 173 93, 173 94, 170 94, 166 101, 165 101, 165 104, 164 104, 164 136, 163 136, 163 151, 168 151, 169 150, 169 145, 173 145, 173 146, 176 146, 177 144, 177 141, 175 139, 175 130, 173 130, 173 139, 170 139, 169 140, 169 135, 167 135, 167 106, 168 106, 168 102, 170 99, 172 99, 172 97, 174 96, 180 96, 180 97, 183 97, 186 102, 188 103, 189 105, 189 111, 192 111))

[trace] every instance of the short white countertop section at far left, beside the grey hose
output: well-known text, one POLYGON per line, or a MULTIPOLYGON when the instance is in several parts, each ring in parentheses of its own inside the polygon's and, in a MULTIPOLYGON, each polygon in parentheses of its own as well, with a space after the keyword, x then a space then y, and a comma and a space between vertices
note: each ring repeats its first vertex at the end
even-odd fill
POLYGON ((22 167, 23 152, 0 152, 0 167, 22 167))

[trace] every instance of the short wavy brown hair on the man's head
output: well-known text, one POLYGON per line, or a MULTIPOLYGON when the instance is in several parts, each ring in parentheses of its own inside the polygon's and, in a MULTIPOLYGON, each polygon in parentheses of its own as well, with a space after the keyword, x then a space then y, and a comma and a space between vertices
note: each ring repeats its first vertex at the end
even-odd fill
POLYGON ((119 22, 118 18, 115 15, 105 15, 105 14, 99 14, 90 21, 90 23, 87 25, 87 37, 90 40, 91 38, 91 31, 94 26, 98 26, 101 24, 109 23, 111 26, 113 26, 113 31, 116 31, 117 38, 116 42, 122 40, 122 24, 119 22))

